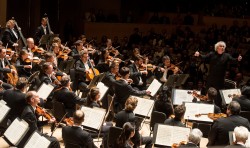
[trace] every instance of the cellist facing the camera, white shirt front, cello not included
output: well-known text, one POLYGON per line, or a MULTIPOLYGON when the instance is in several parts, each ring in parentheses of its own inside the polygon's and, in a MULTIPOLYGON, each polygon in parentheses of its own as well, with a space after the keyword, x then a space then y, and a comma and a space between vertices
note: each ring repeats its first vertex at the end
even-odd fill
POLYGON ((90 62, 88 61, 88 52, 82 50, 80 52, 80 60, 76 61, 75 63, 75 84, 74 88, 80 89, 83 92, 88 92, 89 89, 87 88, 90 80, 87 79, 87 74, 90 73, 90 62))

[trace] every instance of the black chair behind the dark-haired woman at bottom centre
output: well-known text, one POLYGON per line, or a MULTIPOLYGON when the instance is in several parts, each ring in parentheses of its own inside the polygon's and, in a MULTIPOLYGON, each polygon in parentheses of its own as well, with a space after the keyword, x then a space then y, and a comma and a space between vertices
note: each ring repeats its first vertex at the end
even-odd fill
POLYGON ((109 133, 108 133, 108 147, 109 148, 114 148, 116 139, 120 136, 122 132, 122 128, 119 127, 110 127, 109 133))

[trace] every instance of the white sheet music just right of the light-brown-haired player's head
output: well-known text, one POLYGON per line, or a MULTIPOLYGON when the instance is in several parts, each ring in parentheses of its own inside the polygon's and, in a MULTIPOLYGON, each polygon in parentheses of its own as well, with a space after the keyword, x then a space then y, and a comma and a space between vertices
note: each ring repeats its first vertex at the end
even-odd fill
POLYGON ((134 113, 137 115, 141 115, 143 117, 150 117, 155 103, 154 100, 140 98, 140 97, 136 98, 138 99, 138 103, 134 110, 134 113))

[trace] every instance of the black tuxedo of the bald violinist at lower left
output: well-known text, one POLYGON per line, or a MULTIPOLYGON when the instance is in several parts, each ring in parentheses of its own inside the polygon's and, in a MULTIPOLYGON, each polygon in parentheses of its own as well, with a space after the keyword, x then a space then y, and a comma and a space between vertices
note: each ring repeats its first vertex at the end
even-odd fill
MULTIPOLYGON (((39 127, 47 124, 47 121, 38 121, 35 111, 31 105, 27 105, 21 115, 21 118, 29 124, 29 130, 24 138, 19 143, 18 147, 23 147, 28 138, 33 134, 34 131, 38 131, 39 127)), ((54 137, 44 135, 51 141, 50 148, 60 148, 60 144, 54 137)))

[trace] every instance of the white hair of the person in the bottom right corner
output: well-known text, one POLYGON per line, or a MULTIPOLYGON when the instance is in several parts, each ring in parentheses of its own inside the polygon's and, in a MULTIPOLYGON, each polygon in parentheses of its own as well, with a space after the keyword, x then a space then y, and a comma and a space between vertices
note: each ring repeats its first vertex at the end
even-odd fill
POLYGON ((249 131, 244 126, 237 126, 234 128, 234 134, 237 141, 246 142, 248 139, 249 131))

